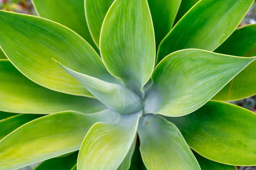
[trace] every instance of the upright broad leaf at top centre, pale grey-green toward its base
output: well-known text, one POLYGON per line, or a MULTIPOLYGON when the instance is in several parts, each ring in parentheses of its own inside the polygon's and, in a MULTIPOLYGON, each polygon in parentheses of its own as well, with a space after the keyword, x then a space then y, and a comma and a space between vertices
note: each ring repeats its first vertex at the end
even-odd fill
POLYGON ((102 25, 100 52, 111 74, 140 93, 154 69, 154 28, 147 0, 115 0, 102 25))

